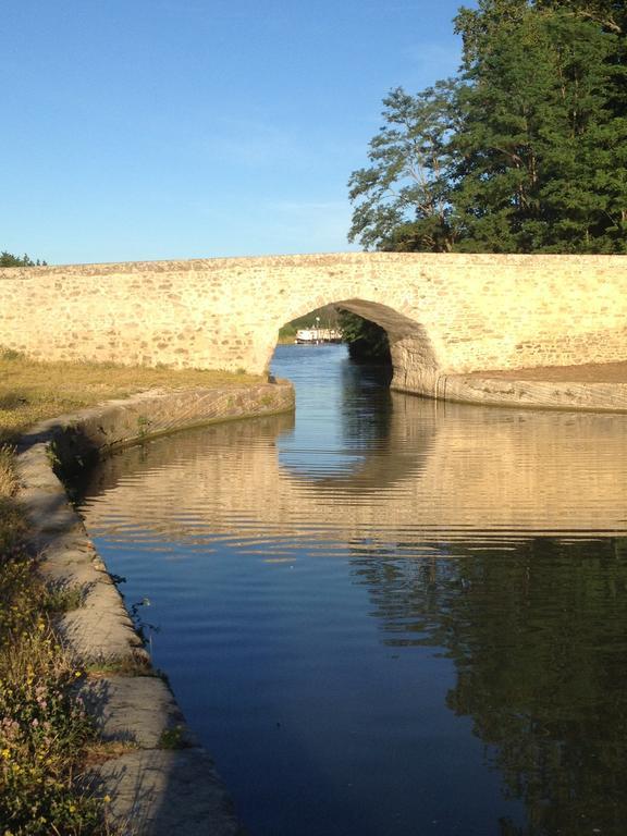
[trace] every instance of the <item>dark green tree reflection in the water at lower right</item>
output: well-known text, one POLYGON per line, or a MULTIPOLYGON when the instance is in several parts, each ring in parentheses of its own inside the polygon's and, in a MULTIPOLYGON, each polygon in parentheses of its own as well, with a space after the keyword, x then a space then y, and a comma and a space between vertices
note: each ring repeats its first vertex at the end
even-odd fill
POLYGON ((391 647, 454 660, 447 704, 472 718, 528 823, 503 836, 618 834, 627 821, 627 539, 415 544, 353 558, 391 647), (617 644, 617 635, 624 641, 617 644))

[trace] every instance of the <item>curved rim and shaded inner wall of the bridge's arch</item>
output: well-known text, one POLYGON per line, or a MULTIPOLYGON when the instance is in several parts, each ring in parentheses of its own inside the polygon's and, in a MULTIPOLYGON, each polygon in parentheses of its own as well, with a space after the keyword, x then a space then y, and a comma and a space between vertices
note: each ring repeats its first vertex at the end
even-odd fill
MULTIPOLYGON (((380 302, 361 297, 328 299, 318 296, 296 306, 293 312, 285 315, 285 319, 276 328, 324 305, 335 305, 353 314, 358 314, 386 331, 392 356, 393 378, 391 385, 393 389, 411 391, 417 384, 429 385, 437 379, 440 361, 433 341, 425 325, 380 302)), ((269 345, 266 358, 267 366, 273 351, 274 344, 269 345)))

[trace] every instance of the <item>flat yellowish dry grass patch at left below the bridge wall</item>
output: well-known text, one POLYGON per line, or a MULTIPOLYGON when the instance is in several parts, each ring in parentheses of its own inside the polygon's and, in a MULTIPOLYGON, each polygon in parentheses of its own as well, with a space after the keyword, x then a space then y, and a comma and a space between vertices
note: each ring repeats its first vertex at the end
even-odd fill
MULTIPOLYGON (((99 362, 38 362, 0 349, 0 444, 44 418, 150 389, 229 386, 251 374, 99 362)), ((0 465, 1 467, 1 465, 0 465)), ((1 477, 0 477, 1 478, 1 477)))

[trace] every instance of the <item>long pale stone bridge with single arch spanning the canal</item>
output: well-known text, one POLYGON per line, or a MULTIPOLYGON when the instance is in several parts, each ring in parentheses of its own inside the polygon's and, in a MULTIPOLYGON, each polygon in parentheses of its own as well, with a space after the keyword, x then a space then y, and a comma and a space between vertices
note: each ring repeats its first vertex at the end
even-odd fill
POLYGON ((390 336, 393 386, 627 358, 627 258, 345 253, 0 270, 0 345, 42 359, 263 372, 335 303, 390 336))

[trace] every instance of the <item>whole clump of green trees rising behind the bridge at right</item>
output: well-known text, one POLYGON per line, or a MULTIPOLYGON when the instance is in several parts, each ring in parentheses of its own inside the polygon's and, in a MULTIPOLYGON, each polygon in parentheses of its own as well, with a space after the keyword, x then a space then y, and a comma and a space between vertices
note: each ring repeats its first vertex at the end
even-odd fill
POLYGON ((394 250, 627 253, 624 3, 480 0, 459 75, 385 99, 351 239, 394 250))

